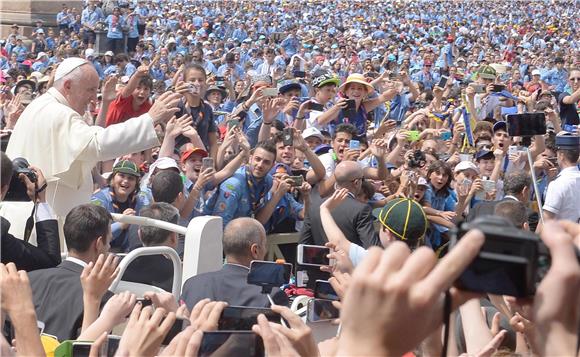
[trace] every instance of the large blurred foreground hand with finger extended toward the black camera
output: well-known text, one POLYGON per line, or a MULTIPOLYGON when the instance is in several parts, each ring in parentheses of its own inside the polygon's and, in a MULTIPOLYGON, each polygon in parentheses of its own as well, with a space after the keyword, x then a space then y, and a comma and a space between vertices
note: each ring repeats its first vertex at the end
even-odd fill
MULTIPOLYGON (((483 234, 472 230, 439 261, 429 248, 411 254, 403 242, 391 243, 385 250, 369 249, 343 300, 338 355, 402 356, 415 348, 441 325, 444 292, 483 242, 483 234)), ((452 308, 468 299, 454 288, 450 294, 452 308)))

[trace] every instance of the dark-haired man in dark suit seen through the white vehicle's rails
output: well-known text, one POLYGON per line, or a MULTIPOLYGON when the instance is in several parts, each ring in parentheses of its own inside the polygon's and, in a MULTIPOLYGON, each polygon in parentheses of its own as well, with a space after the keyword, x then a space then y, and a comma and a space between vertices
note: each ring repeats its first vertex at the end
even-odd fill
MULTIPOLYGON (((148 217, 164 222, 177 224, 179 211, 165 202, 153 203, 139 212, 141 217, 148 217)), ((168 230, 141 226, 139 239, 144 247, 177 248, 177 233, 168 230)), ((173 263, 161 255, 146 255, 135 259, 123 274, 122 280, 157 286, 167 292, 173 288, 173 263)))

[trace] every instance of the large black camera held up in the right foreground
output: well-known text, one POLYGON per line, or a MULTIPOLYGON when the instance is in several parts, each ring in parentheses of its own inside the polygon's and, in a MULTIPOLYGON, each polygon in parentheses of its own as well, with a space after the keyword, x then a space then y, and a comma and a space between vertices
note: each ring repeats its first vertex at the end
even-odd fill
POLYGON ((517 229, 501 217, 483 216, 453 229, 450 249, 474 228, 483 232, 485 243, 455 286, 497 295, 533 296, 551 263, 548 248, 540 237, 517 229))

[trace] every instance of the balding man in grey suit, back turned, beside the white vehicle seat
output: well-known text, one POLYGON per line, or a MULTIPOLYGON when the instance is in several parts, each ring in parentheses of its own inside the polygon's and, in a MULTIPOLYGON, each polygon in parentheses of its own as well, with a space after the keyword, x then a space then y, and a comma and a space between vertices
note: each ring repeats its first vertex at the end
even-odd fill
MULTIPOLYGON (((266 231, 252 218, 236 218, 226 226, 223 237, 226 264, 218 271, 187 279, 181 299, 191 310, 198 301, 209 298, 225 301, 230 306, 266 307, 270 303, 262 288, 247 283, 250 262, 264 260, 266 231)), ((288 305, 284 292, 274 289, 270 294, 278 305, 288 305)))

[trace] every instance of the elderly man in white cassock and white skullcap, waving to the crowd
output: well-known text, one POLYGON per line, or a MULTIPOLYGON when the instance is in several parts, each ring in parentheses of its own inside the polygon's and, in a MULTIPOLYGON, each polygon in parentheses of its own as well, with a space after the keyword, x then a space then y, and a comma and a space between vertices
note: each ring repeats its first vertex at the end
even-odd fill
POLYGON ((159 145, 154 126, 177 112, 179 94, 159 97, 148 113, 107 128, 89 126, 82 115, 96 100, 99 77, 82 58, 67 58, 57 68, 54 86, 24 110, 6 154, 23 157, 42 170, 46 199, 61 224, 75 206, 90 202, 92 168, 99 161, 159 145))

